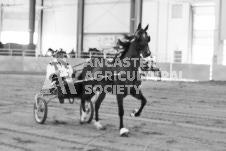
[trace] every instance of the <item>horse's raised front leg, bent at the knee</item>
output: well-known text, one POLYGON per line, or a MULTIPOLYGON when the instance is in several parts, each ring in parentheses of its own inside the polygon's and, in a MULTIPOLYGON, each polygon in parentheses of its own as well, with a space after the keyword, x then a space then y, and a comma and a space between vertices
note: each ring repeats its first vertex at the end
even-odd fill
POLYGON ((144 95, 142 94, 141 90, 139 90, 139 93, 136 93, 136 91, 132 91, 132 92, 131 92, 131 95, 132 95, 133 97, 137 98, 138 100, 141 100, 141 106, 140 106, 140 109, 139 109, 139 110, 135 109, 134 112, 132 112, 130 115, 131 115, 132 117, 134 117, 134 116, 135 116, 135 117, 140 116, 140 114, 141 114, 141 112, 142 112, 144 106, 145 106, 146 103, 147 103, 147 100, 146 100, 146 98, 144 97, 144 95))

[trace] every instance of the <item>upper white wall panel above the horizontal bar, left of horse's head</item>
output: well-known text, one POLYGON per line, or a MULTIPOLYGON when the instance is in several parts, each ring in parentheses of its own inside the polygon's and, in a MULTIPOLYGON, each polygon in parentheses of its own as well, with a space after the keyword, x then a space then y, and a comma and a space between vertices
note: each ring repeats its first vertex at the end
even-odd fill
POLYGON ((128 33, 130 0, 86 0, 85 33, 128 33))

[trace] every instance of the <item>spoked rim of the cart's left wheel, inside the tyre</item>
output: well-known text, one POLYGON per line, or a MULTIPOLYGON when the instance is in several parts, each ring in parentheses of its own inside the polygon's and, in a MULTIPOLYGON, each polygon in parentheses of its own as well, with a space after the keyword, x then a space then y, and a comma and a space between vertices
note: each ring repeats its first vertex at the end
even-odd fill
POLYGON ((45 104, 42 99, 37 100, 37 105, 35 106, 35 119, 41 122, 45 115, 45 104))

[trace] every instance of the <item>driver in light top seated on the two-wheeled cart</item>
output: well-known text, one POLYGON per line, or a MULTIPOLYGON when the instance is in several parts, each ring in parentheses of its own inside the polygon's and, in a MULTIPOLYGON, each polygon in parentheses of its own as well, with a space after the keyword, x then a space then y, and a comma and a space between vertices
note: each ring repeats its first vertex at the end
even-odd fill
POLYGON ((51 61, 46 68, 46 79, 51 80, 51 92, 57 92, 60 103, 64 103, 64 94, 66 90, 64 81, 67 83, 72 82, 73 69, 64 58, 65 54, 60 51, 51 52, 51 61))

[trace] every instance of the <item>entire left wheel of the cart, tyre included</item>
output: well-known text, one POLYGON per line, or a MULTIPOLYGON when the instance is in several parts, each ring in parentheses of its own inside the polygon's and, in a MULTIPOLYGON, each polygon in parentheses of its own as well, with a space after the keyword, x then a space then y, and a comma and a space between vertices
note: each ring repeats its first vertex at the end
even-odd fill
POLYGON ((35 121, 39 124, 44 124, 47 118, 47 103, 42 98, 37 98, 37 105, 36 102, 34 103, 34 118, 35 121))

